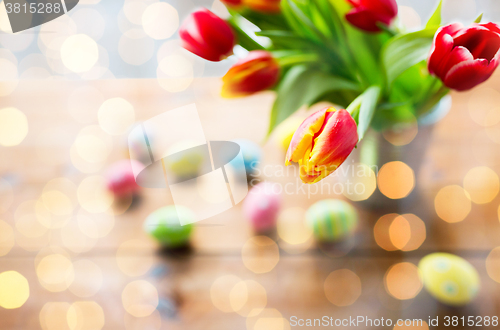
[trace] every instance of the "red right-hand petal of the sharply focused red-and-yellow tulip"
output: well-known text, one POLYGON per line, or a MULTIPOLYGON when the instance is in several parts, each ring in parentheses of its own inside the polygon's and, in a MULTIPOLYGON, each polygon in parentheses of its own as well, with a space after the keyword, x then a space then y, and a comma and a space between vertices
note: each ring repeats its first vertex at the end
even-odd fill
POLYGON ((346 110, 336 111, 314 139, 310 162, 340 166, 358 143, 356 122, 346 110))

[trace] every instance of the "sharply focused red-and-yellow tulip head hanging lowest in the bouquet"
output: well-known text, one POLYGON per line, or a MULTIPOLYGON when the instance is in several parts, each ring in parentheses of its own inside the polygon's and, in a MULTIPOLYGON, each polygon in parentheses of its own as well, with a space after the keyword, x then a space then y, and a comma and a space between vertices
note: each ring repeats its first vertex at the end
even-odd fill
POLYGON ((288 147, 286 165, 299 163, 302 182, 316 183, 342 165, 357 143, 356 122, 349 112, 325 108, 299 126, 288 147))

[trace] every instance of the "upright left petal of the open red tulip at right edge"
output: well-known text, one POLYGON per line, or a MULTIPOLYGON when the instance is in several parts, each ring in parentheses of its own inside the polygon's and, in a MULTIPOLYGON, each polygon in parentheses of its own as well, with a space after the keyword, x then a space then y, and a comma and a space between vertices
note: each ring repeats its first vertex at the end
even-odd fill
POLYGON ((453 35, 461 28, 462 24, 454 23, 437 30, 428 60, 429 73, 437 74, 441 62, 453 49, 453 35))

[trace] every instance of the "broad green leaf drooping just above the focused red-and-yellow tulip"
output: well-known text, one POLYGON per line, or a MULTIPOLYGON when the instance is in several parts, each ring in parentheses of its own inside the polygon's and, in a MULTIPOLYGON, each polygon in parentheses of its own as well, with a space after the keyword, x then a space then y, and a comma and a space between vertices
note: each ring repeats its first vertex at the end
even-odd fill
POLYGON ((268 134, 303 105, 310 106, 321 95, 335 90, 358 91, 359 86, 305 65, 292 67, 278 86, 268 134))

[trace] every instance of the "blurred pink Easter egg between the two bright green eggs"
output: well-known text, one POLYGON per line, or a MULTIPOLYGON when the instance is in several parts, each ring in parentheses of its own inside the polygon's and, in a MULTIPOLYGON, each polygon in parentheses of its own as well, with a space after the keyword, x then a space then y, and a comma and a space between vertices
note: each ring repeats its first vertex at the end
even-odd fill
POLYGON ((266 232, 276 227, 281 208, 281 195, 276 188, 270 182, 259 183, 243 201, 243 214, 256 232, 266 232))

